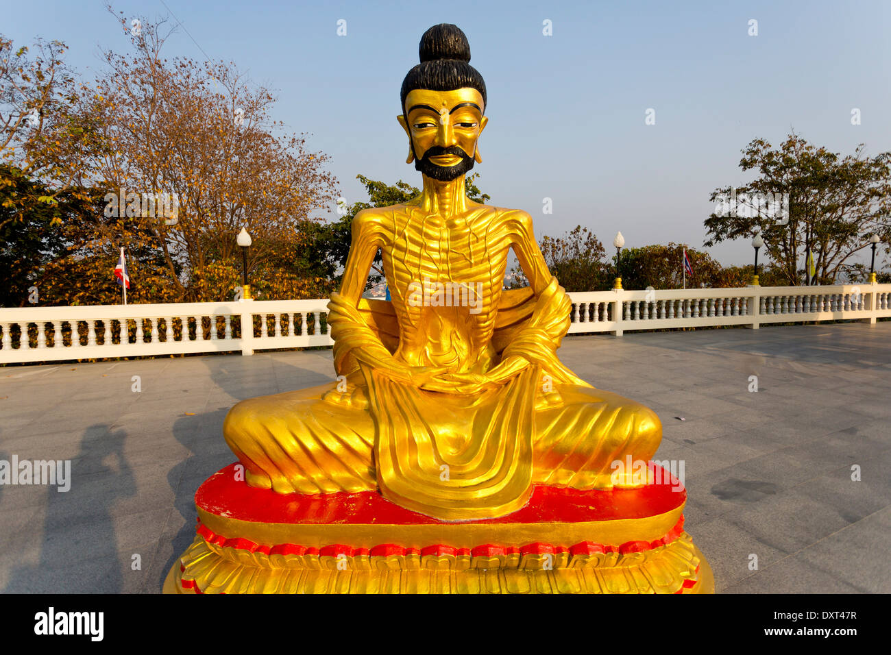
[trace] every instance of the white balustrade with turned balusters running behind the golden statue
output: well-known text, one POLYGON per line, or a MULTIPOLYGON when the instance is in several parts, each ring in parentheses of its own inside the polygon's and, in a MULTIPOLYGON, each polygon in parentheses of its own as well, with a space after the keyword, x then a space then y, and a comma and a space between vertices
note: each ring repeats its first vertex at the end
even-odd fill
MULTIPOLYGON (((568 295, 572 302, 570 333, 622 334, 624 330, 716 325, 757 328, 765 323, 842 319, 874 323, 879 317, 891 317, 891 284, 813 287, 807 293, 798 287, 745 287, 568 295)), ((232 351, 248 355, 266 348, 331 346, 328 329, 323 331, 327 304, 327 299, 312 299, 0 308, 0 364, 232 351), (254 317, 260 323, 257 337, 254 317), (208 332, 205 320, 209 321, 208 332), (233 321, 240 324, 239 337, 233 336, 233 321), (112 327, 115 322, 117 328, 112 327), (164 323, 163 328, 159 322, 164 323), (175 322, 180 325, 178 340, 175 322), (102 328, 97 328, 97 323, 102 323, 102 328), (148 334, 146 323, 150 325, 148 334), (133 343, 130 325, 135 328, 133 343), (102 331, 98 340, 97 330, 102 331), (70 335, 68 343, 65 332, 70 335)))

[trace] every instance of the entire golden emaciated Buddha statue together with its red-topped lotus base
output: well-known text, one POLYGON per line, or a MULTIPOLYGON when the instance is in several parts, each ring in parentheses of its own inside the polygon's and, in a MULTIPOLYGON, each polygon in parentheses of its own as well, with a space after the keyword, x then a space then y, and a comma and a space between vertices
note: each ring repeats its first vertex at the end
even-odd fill
POLYGON ((454 25, 421 37, 397 119, 423 192, 354 219, 338 380, 228 413, 240 462, 196 492, 165 592, 714 591, 683 484, 650 462, 658 417, 560 363, 570 302, 532 219, 464 192, 487 122, 469 61, 454 25), (362 298, 379 249, 391 302, 362 298), (511 250, 529 285, 505 291, 511 250))

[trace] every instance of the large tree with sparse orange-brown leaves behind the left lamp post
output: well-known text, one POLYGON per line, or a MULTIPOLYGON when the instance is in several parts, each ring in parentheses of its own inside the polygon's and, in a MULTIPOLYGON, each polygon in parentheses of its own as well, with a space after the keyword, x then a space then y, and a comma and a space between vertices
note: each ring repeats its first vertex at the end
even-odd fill
POLYGON ((282 123, 269 118, 273 95, 233 64, 162 59, 164 21, 141 23, 133 34, 121 19, 134 53, 104 53, 108 70, 79 96, 102 138, 89 166, 126 201, 110 193, 108 209, 127 220, 96 223, 94 242, 157 250, 177 300, 228 299, 241 269, 235 235, 245 227, 250 279, 263 272, 264 297, 282 295, 275 283, 292 273, 273 270, 282 244, 301 242, 301 227, 338 196, 327 155, 307 151, 306 135, 280 135, 282 123), (152 208, 161 197, 176 209, 152 208))

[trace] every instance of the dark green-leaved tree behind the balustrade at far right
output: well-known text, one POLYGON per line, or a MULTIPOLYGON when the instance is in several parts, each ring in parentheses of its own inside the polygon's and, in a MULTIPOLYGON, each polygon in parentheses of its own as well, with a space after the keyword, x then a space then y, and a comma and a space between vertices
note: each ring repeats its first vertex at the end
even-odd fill
MULTIPOLYGON (((885 243, 891 239, 891 152, 870 158, 861 143, 843 158, 795 133, 779 149, 758 138, 742 152, 740 168, 756 169, 759 176, 736 190, 742 211, 717 211, 706 219, 706 246, 760 232, 766 255, 785 283, 797 285, 804 273, 799 253, 810 249, 816 278, 834 283, 839 275, 851 277, 856 271, 848 260, 868 247, 873 233, 885 243), (788 222, 751 201, 768 194, 787 195, 788 222)), ((715 189, 711 200, 731 193, 731 187, 715 189)))

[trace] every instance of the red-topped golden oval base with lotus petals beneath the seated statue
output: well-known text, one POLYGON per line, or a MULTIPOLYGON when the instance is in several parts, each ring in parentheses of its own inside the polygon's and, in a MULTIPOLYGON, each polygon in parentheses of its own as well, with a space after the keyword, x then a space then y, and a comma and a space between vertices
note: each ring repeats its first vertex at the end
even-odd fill
POLYGON ((248 487, 240 472, 231 464, 198 489, 197 535, 164 593, 715 591, 683 531, 686 491, 674 478, 611 491, 536 486, 509 516, 447 522, 376 492, 280 495, 248 487))

